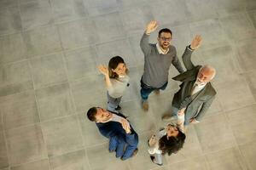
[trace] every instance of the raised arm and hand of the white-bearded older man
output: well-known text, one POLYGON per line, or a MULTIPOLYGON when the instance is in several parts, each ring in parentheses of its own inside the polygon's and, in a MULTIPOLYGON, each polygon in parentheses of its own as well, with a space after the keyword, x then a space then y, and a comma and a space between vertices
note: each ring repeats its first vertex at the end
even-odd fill
POLYGON ((185 49, 183 53, 183 64, 187 70, 191 70, 195 67, 195 65, 191 61, 191 55, 196 48, 201 46, 202 38, 200 35, 196 35, 191 44, 185 49))

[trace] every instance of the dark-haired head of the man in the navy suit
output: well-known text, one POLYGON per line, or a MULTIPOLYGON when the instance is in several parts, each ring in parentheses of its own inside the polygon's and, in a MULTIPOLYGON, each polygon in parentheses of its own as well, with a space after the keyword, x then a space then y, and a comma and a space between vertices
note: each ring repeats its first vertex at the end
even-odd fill
POLYGON ((91 122, 108 122, 111 116, 112 113, 102 109, 101 107, 91 107, 87 111, 87 117, 91 122))

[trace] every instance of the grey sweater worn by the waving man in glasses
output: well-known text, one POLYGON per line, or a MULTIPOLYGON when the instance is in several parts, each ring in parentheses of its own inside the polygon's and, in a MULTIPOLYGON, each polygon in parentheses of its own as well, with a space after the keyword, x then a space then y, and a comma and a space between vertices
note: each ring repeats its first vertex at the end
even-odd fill
POLYGON ((177 71, 183 72, 183 67, 177 59, 176 48, 169 47, 167 54, 160 54, 156 44, 148 43, 149 36, 143 34, 140 46, 144 54, 143 82, 153 88, 160 88, 168 81, 169 68, 175 66, 177 71))

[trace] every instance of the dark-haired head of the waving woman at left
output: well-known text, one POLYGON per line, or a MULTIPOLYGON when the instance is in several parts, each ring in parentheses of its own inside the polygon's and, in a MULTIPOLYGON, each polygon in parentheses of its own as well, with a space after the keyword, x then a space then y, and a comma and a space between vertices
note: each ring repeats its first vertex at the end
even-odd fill
POLYGON ((125 61, 120 56, 111 58, 108 62, 109 77, 118 78, 119 76, 125 76, 127 71, 125 61))

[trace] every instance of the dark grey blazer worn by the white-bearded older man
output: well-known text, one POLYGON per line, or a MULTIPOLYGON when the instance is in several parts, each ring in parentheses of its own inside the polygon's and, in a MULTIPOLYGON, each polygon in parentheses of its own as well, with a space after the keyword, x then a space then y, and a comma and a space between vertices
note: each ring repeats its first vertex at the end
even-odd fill
POLYGON ((189 119, 192 117, 195 117, 197 121, 201 121, 201 118, 206 114, 216 95, 216 91, 212 87, 211 82, 208 82, 206 87, 199 93, 190 96, 197 74, 201 69, 201 65, 194 65, 192 63, 192 53, 193 51, 189 50, 189 47, 185 49, 183 53, 183 64, 187 71, 172 78, 173 80, 182 82, 179 86, 180 89, 174 94, 172 106, 177 109, 187 108, 185 111, 185 124, 188 124, 189 119))

